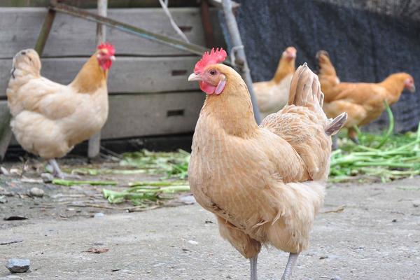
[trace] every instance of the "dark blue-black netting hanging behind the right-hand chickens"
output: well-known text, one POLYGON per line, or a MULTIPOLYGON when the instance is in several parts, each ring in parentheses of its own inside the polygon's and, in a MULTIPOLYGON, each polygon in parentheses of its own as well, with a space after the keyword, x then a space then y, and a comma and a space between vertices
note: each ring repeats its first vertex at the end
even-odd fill
MULTIPOLYGON (((272 78, 288 45, 297 48, 297 64, 308 62, 311 69, 316 69, 316 52, 327 50, 342 81, 378 82, 405 71, 412 74, 418 90, 403 92, 392 106, 395 130, 416 128, 420 120, 420 1, 237 2, 241 3, 237 22, 254 81, 272 78)), ((370 129, 386 125, 384 113, 370 129)))

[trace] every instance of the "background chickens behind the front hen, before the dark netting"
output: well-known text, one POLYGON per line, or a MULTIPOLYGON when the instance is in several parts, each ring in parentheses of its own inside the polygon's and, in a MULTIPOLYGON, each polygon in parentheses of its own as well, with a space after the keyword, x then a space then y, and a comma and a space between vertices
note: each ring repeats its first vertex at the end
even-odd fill
MULTIPOLYGON (((281 56, 274 78, 267 82, 254 83, 258 107, 262 117, 279 111, 287 104, 290 80, 295 73, 296 49, 288 47, 281 56)), ((388 105, 398 102, 403 90, 414 92, 414 79, 408 73, 393 73, 381 83, 341 83, 328 52, 316 53, 318 78, 324 94, 323 110, 328 118, 335 118, 342 112, 348 114, 345 127, 349 139, 358 144, 355 126, 372 123, 388 105)), ((335 139, 336 140, 336 139, 335 139)), ((337 148, 334 143, 333 148, 337 148)))

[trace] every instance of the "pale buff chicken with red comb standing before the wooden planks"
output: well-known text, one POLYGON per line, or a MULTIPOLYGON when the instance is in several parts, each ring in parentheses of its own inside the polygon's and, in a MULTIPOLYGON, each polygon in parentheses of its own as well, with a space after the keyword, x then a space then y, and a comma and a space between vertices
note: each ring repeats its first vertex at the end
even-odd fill
POLYGON ((108 117, 106 80, 115 49, 102 43, 69 85, 41 76, 35 50, 22 50, 13 58, 8 89, 10 126, 26 151, 50 161, 53 173, 64 174, 55 158, 99 132, 108 117))

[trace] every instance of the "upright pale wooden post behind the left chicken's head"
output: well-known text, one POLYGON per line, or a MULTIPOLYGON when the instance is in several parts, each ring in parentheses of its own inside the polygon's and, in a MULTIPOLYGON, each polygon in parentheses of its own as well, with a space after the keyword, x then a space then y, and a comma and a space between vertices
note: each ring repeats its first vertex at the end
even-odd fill
MULTIPOLYGON (((106 10, 108 7, 108 0, 98 0, 98 15, 106 17, 106 10)), ((97 24, 97 45, 106 40, 106 27, 100 23, 97 24)), ((87 157, 96 158, 101 150, 101 132, 94 134, 89 139, 87 148, 87 157)))

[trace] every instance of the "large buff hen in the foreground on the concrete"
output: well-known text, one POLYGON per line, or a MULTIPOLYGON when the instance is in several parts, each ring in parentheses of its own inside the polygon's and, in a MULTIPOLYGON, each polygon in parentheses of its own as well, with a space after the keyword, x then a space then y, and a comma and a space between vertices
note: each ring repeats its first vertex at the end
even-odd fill
POLYGON ((207 93, 193 138, 190 188, 216 214, 222 237, 250 259, 251 279, 262 244, 290 252, 282 278, 290 279, 323 204, 330 135, 346 114, 328 120, 318 78, 305 64, 293 76, 288 105, 258 127, 244 80, 218 64, 225 55, 205 53, 188 78, 207 93))

